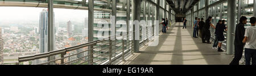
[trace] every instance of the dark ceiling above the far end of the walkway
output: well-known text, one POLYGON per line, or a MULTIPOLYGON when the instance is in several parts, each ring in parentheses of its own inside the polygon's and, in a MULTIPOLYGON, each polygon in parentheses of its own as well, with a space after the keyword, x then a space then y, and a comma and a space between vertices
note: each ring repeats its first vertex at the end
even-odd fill
POLYGON ((166 0, 171 6, 171 9, 176 14, 185 14, 189 11, 199 0, 166 0))

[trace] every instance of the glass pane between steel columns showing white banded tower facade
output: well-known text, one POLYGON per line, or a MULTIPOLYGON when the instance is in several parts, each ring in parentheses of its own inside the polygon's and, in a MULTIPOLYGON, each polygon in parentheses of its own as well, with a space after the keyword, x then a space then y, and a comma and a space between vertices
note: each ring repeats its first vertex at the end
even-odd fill
MULTIPOLYGON (((111 1, 112 2, 112 1, 111 1)), ((93 41, 97 41, 103 38, 110 37, 110 16, 112 16, 112 4, 105 2, 105 1, 94 1, 94 8, 104 8, 104 9, 109 9, 109 11, 97 11, 94 10, 94 22, 93 22, 93 41), (105 6, 104 6, 105 5, 105 6), (102 21, 104 20, 104 21, 102 21), (105 22, 106 21, 106 22, 105 22)), ((104 50, 106 48, 109 48, 109 44, 106 44, 108 42, 101 42, 97 43, 95 48, 93 50, 94 56, 101 55, 102 53, 105 53, 101 56, 96 57, 94 60, 100 60, 95 62, 94 64, 100 64, 102 61, 105 61, 109 59, 109 57, 105 57, 109 55, 108 49, 104 50), (104 50, 104 51, 101 51, 104 50)))

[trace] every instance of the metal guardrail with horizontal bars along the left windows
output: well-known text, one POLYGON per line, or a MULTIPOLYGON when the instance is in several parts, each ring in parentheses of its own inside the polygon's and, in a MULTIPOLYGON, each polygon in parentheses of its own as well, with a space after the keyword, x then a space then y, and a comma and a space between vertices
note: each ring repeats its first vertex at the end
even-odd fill
MULTIPOLYGON (((127 32, 127 34, 129 34, 129 32, 127 32)), ((98 41, 63 48, 61 50, 31 56, 22 56, 18 57, 18 62, 31 61, 34 62, 32 64, 36 65, 112 64, 112 62, 117 61, 117 59, 118 61, 125 60, 125 56, 128 56, 129 53, 133 53, 133 51, 131 51, 133 48, 133 41, 125 40, 124 38, 126 37, 127 35, 120 34, 98 41), (121 37, 122 40, 111 40, 112 38, 117 37, 121 37), (105 44, 100 44, 102 42, 105 42, 105 44), (96 51, 97 48, 100 49, 96 51)))

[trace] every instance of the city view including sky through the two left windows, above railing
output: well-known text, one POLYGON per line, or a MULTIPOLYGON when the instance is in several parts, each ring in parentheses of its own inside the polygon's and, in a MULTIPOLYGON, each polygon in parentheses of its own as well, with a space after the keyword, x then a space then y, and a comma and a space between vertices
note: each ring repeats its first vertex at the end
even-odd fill
MULTIPOLYGON (((6 59, 4 60, 6 63, 15 62, 14 57, 47 52, 47 8, 0 7, 0 9, 6 10, 5 12, 1 12, 1 14, 20 12, 20 14, 26 15, 7 14, 3 17, 13 20, 10 21, 9 19, 2 18, 0 20, 3 39, 3 57, 6 59)), ((88 42, 88 29, 85 26, 85 15, 87 11, 73 11, 77 12, 77 14, 81 14, 81 12, 85 13, 81 17, 61 16, 57 14, 59 13, 58 11, 73 10, 57 9, 55 12, 55 16, 59 18, 55 18, 55 50, 88 42)), ((71 13, 65 12, 65 14, 71 13)))

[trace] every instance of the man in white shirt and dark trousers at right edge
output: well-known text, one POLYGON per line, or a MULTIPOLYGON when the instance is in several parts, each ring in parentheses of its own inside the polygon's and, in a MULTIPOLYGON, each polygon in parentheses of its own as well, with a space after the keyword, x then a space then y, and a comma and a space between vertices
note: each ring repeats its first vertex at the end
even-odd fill
POLYGON ((256 65, 256 17, 250 18, 251 26, 245 30, 245 38, 243 39, 243 43, 245 44, 245 64, 250 65, 252 61, 252 65, 256 65))

